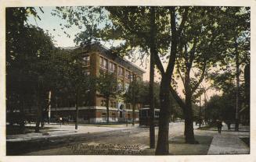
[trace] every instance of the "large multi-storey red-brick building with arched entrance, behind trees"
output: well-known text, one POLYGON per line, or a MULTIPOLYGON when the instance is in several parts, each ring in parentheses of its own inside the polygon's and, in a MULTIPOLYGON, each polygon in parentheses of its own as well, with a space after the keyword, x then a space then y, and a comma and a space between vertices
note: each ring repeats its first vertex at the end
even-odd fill
MULTIPOLYGON (((82 56, 86 74, 99 76, 101 72, 114 72, 117 76, 117 86, 122 86, 123 90, 128 89, 132 79, 142 79, 144 73, 142 69, 115 55, 101 44, 83 48, 82 56)), ((59 98, 56 103, 49 111, 52 117, 75 117, 74 97, 59 98)), ((109 106, 110 122, 132 121, 132 104, 125 103, 121 95, 110 98, 109 106)), ((139 120, 140 107, 141 104, 135 105, 136 120, 139 120)), ((106 122, 106 100, 98 92, 90 92, 88 104, 79 106, 78 109, 78 122, 106 122)))

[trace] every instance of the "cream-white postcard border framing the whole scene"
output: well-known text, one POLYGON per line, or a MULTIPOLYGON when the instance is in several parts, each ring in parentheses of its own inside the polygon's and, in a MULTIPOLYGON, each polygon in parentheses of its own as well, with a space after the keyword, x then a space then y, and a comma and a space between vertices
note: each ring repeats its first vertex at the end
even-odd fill
MULTIPOLYGON (((52 5, 228 5, 228 6, 251 6, 251 117, 256 114, 255 106, 256 96, 255 84, 256 77, 254 69, 256 69, 256 40, 255 40, 255 16, 256 16, 256 1, 255 0, 0 0, 0 161, 120 161, 120 160, 135 160, 142 161, 255 161, 256 159, 256 119, 251 118, 251 154, 250 155, 212 155, 212 156, 31 156, 31 157, 5 157, 5 7, 6 6, 52 6, 52 5)), ((171 131, 171 130, 170 130, 171 131)))

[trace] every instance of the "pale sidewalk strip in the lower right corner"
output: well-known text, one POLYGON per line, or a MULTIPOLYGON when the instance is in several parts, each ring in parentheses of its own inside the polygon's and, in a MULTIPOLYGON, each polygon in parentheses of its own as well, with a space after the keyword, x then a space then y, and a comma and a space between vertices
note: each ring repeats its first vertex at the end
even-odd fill
POLYGON ((248 154, 250 148, 240 138, 249 138, 250 128, 240 126, 243 132, 233 132, 228 130, 227 125, 223 125, 221 134, 216 133, 211 141, 208 155, 220 154, 248 154), (245 132, 246 131, 246 132, 245 132))

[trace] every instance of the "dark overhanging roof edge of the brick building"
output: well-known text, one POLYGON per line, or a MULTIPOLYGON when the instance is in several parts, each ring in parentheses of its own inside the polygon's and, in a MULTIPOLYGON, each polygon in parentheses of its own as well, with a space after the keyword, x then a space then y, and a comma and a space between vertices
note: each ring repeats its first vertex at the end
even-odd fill
MULTIPOLYGON (((81 48, 81 46, 76 46, 73 48, 64 48, 68 50, 75 50, 81 48)), ((140 69, 137 65, 133 64, 132 62, 129 62, 128 60, 121 58, 121 56, 117 55, 116 52, 110 50, 109 48, 106 48, 103 44, 100 44, 99 42, 92 42, 92 44, 88 44, 84 47, 82 47, 85 51, 91 51, 91 50, 99 50, 101 51, 102 55, 104 55, 106 58, 112 59, 114 62, 118 62, 127 69, 131 69, 133 72, 137 72, 138 74, 143 74, 146 71, 143 69, 140 69)))

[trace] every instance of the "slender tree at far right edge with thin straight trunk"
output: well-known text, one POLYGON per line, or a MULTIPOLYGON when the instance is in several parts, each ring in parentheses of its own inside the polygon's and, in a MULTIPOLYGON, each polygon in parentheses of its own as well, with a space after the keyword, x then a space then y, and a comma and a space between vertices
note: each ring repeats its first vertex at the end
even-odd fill
POLYGON ((219 60, 219 65, 224 68, 219 71, 229 71, 232 73, 233 79, 236 78, 236 131, 238 131, 238 111, 241 107, 240 78, 243 67, 250 64, 250 8, 226 7, 222 8, 222 12, 224 14, 220 25, 229 27, 222 27, 226 51, 222 55, 222 59, 219 60))

